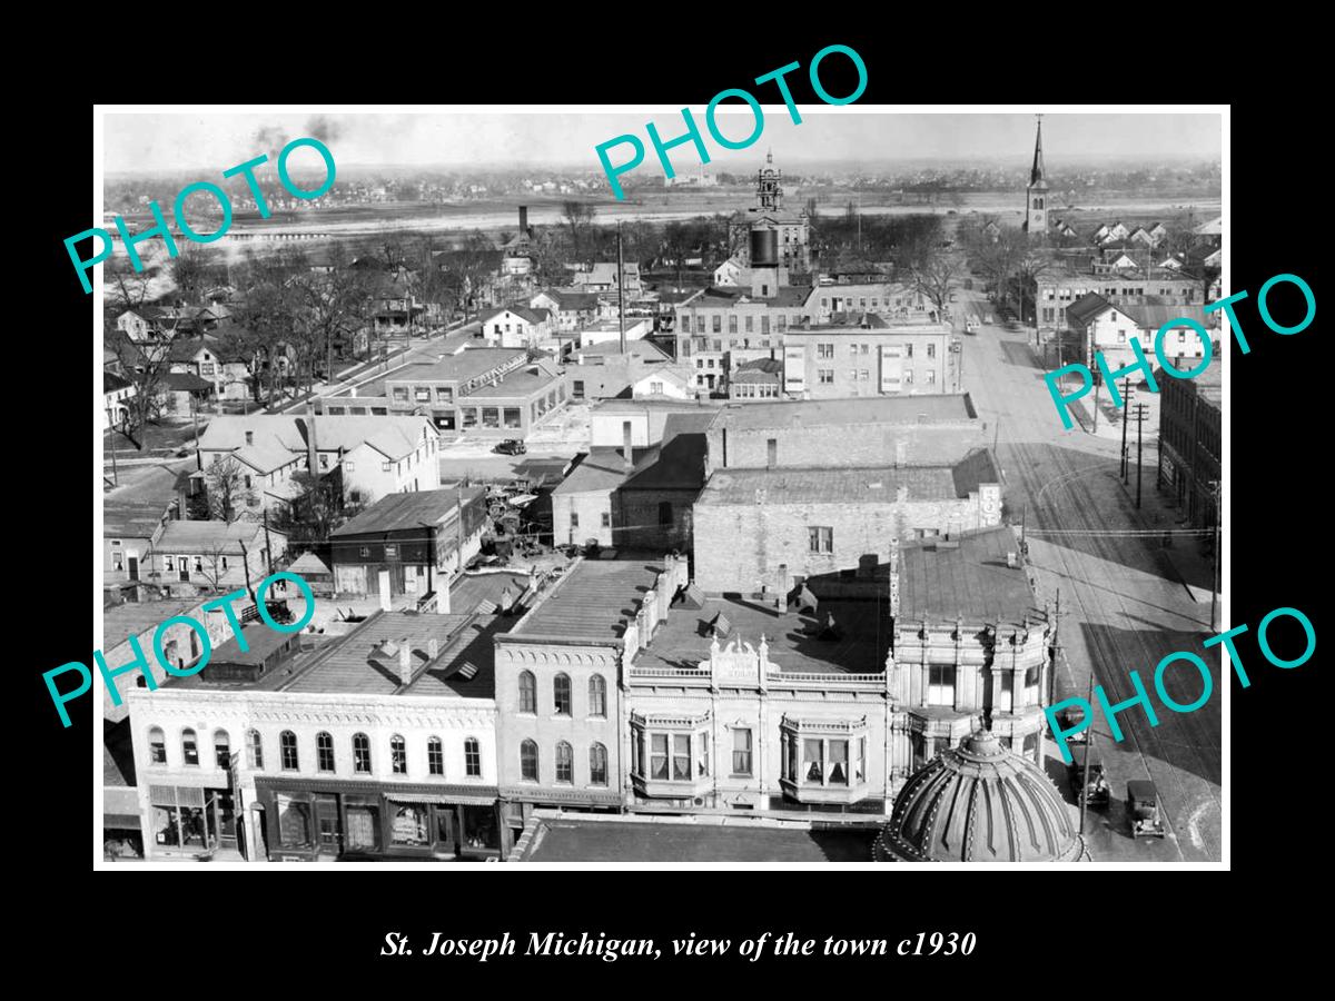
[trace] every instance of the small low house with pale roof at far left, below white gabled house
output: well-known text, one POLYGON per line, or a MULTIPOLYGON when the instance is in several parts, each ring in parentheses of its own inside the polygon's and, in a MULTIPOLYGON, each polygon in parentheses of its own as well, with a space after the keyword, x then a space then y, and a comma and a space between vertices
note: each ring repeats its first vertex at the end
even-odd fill
POLYGON ((251 589, 280 566, 287 537, 254 521, 167 522, 148 554, 147 578, 172 594, 251 589))

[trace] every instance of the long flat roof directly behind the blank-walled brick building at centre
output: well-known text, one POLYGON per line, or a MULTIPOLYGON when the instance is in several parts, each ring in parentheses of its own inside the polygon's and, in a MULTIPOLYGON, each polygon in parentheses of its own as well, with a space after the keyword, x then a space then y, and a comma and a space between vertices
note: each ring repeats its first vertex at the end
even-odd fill
POLYGON ((713 426, 746 431, 770 427, 916 424, 976 419, 977 414, 969 394, 952 392, 930 396, 730 403, 718 411, 713 426))

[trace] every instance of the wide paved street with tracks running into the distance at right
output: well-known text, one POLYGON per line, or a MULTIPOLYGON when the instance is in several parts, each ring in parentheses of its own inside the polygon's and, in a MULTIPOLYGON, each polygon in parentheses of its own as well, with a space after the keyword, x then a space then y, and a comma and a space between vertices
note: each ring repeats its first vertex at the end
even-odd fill
MULTIPOLYGON (((957 295, 957 315, 965 308, 987 312, 981 294, 957 295)), ((989 434, 996 434, 1000 420, 1007 511, 1017 523, 1024 517, 1040 601, 1055 601, 1057 589, 1061 593, 1060 638, 1069 670, 1059 671, 1057 699, 1084 697, 1092 667, 1109 701, 1120 702, 1135 694, 1128 675, 1136 670, 1159 717, 1159 726, 1152 727, 1139 705, 1123 711, 1117 721, 1124 739, 1117 743, 1103 714, 1096 713, 1095 739, 1108 767, 1113 802, 1105 811, 1089 811, 1091 854, 1108 861, 1219 861, 1222 679, 1218 657, 1200 646, 1216 630, 1210 629, 1208 590, 1193 597, 1160 549, 1161 533, 1176 529, 1172 513, 1148 499, 1144 511, 1135 510, 1135 471, 1128 494, 1119 478, 1117 439, 1093 436, 1079 424, 1063 430, 1025 331, 981 327, 960 339, 964 387, 989 434), (1155 666, 1177 650, 1200 654, 1215 671, 1214 694, 1193 713, 1172 713, 1155 695, 1155 666), (1169 829, 1163 841, 1131 838, 1125 789, 1127 781, 1136 778, 1149 778, 1159 789, 1169 829)), ((1152 426, 1147 422, 1144 431, 1149 446, 1157 436, 1157 420, 1152 426)), ((1153 455, 1147 447, 1147 498, 1155 490, 1153 455)), ((1197 549, 1195 537, 1173 537, 1172 551, 1184 557, 1179 562, 1199 563, 1193 555, 1197 549)), ((1165 686, 1180 703, 1200 694, 1200 679, 1189 663, 1169 669, 1165 686)), ((1065 791, 1060 758, 1049 758, 1048 771, 1065 791)))

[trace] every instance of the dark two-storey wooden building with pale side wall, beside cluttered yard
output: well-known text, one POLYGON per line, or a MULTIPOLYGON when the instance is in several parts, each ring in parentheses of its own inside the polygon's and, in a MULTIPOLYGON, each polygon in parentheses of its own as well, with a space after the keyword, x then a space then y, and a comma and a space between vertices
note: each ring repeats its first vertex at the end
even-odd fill
POLYGON ((478 554, 487 526, 486 487, 382 496, 331 534, 334 593, 374 595, 386 571, 391 595, 438 595, 449 611, 447 582, 478 554))

